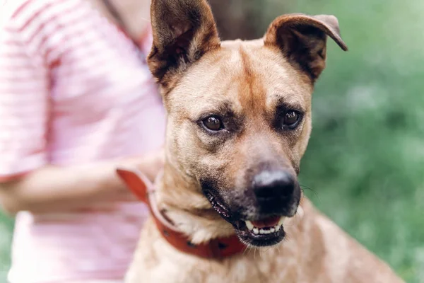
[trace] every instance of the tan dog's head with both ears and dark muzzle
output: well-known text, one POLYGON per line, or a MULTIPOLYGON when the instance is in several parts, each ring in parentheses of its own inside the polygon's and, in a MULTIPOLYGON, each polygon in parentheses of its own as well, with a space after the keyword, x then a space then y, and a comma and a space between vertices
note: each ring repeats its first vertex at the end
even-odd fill
POLYGON ((206 0, 153 0, 148 64, 167 109, 168 160, 245 243, 284 235, 301 197, 314 81, 334 16, 276 18, 261 40, 220 42, 206 0))

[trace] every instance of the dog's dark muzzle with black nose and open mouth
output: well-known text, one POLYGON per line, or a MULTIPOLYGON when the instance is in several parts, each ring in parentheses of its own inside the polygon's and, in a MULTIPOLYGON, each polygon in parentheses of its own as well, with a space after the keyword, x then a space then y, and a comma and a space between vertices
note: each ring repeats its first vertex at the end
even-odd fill
POLYGON ((286 217, 295 215, 300 186, 288 171, 261 171, 245 190, 203 187, 212 207, 234 226, 240 240, 252 246, 272 246, 283 240, 286 217))

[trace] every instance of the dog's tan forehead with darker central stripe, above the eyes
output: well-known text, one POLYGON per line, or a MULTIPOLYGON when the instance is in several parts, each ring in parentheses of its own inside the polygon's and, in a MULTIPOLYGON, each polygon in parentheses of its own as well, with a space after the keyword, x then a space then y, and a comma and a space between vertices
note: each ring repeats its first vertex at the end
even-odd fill
POLYGON ((281 101, 309 110, 311 93, 310 81, 279 50, 265 47, 262 40, 235 40, 194 64, 170 100, 192 115, 220 105, 235 112, 264 110, 281 101))

